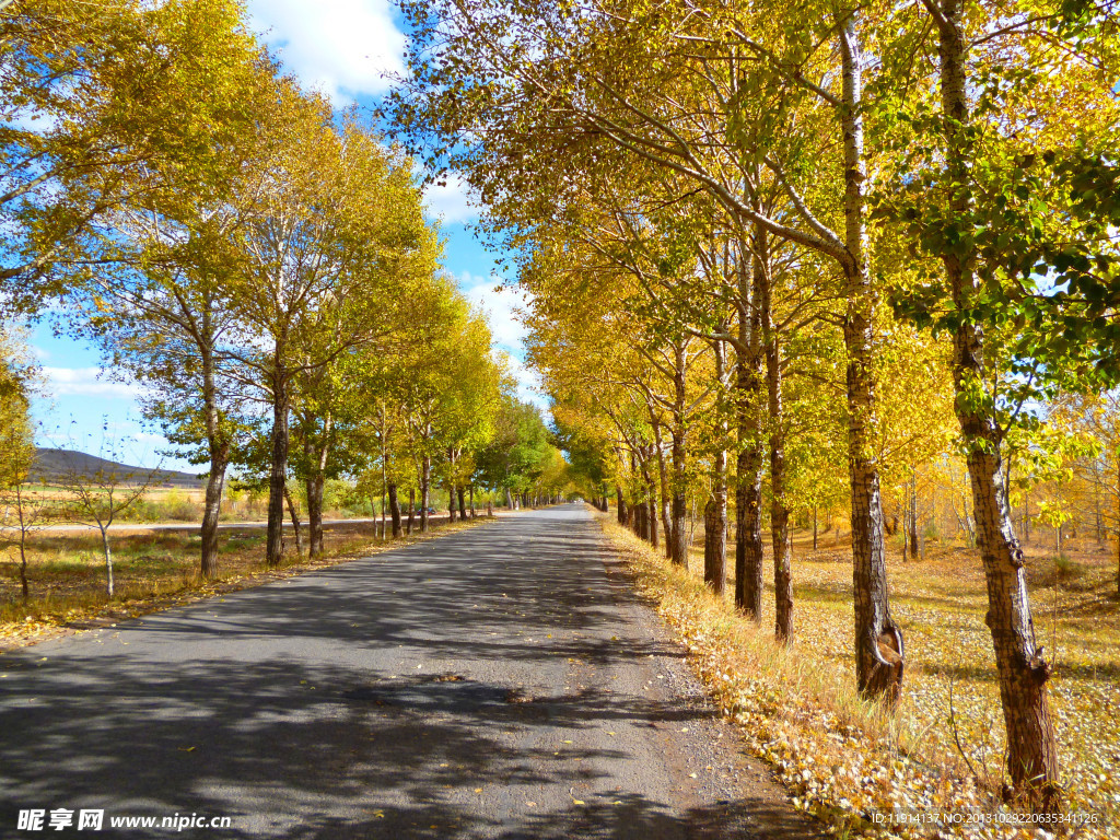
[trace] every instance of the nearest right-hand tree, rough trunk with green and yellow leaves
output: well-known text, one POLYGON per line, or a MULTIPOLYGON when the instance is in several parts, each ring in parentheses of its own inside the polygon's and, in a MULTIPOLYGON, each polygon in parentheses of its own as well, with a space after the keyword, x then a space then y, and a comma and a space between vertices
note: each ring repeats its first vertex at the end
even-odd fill
POLYGON ((884 62, 896 74, 885 90, 906 92, 885 96, 905 150, 885 204, 915 254, 940 267, 912 311, 953 336, 1008 796, 1037 813, 1060 811, 1063 795, 1051 665, 1035 637, 1002 445, 1032 400, 1092 381, 1090 363, 1117 375, 1120 39, 1108 6, 1043 2, 1024 13, 923 0, 899 11, 913 36, 884 62))

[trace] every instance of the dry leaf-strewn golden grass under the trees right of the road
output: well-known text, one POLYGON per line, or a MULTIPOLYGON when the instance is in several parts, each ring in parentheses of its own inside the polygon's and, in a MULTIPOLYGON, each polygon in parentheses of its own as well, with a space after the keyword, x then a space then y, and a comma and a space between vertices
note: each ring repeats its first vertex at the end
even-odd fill
MULTIPOLYGON (((693 552, 689 573, 607 517, 604 528, 688 645, 724 712, 775 765, 799 806, 838 833, 881 831, 875 814, 896 810, 999 808, 1002 717, 974 552, 949 549, 921 563, 889 562, 892 613, 909 660, 905 699, 890 715, 855 691, 851 562, 842 549, 795 548, 796 640, 785 648, 773 640, 773 597, 757 625, 703 586, 702 553, 693 552)), ((1075 562, 1080 572, 1071 577, 1045 552, 1028 560, 1039 641, 1057 652, 1053 701, 1071 810, 1098 819, 1077 837, 1104 838, 1120 824, 1114 566, 1092 552, 1075 562)), ((1036 836, 967 825, 946 833, 1036 836)))

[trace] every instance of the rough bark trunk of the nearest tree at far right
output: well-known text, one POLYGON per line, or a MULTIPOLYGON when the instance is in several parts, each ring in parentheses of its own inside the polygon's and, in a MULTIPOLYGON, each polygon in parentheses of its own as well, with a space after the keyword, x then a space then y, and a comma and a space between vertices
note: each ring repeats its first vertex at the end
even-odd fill
MULTIPOLYGON (((960 185, 951 209, 961 218, 971 215, 969 196, 970 140, 963 128, 968 121, 965 40, 961 30, 959 0, 942 0, 939 29, 941 96, 945 118, 945 160, 949 181, 960 185)), ((965 259, 955 252, 943 254, 953 304, 968 310, 979 283, 965 259)), ((1010 790, 1005 797, 1052 813, 1062 808, 1057 745, 1049 710, 1051 666, 1036 645, 1023 551, 1015 539, 1007 486, 1000 463, 1001 430, 990 413, 968 394, 987 381, 983 330, 961 324, 953 336, 954 408, 967 447, 965 460, 972 484, 972 508, 977 544, 988 582, 988 614, 999 673, 999 693, 1007 726, 1007 769, 1010 790)))

